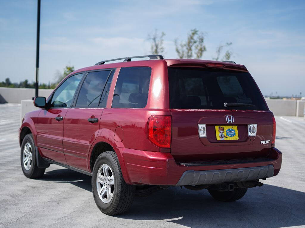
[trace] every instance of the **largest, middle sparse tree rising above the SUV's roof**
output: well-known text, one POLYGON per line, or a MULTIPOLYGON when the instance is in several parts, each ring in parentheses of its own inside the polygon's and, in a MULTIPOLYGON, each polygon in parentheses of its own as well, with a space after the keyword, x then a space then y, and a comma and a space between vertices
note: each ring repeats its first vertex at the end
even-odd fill
POLYGON ((196 59, 200 59, 203 56, 203 52, 206 51, 204 45, 204 35, 199 33, 197 29, 191 29, 185 42, 178 43, 178 39, 175 39, 176 52, 180 59, 188 58, 192 59, 195 56, 196 59))

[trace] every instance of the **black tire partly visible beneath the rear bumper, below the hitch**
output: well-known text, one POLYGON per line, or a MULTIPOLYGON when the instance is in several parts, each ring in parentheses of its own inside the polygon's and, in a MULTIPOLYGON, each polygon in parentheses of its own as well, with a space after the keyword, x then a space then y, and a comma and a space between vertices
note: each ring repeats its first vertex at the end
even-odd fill
POLYGON ((235 188, 233 191, 216 191, 208 190, 214 199, 223 202, 231 202, 241 199, 247 192, 248 188, 235 188))

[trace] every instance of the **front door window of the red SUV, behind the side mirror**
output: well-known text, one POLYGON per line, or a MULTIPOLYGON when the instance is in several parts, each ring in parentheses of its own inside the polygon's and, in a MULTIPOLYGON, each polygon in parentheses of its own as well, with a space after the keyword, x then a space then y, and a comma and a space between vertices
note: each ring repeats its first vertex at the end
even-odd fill
POLYGON ((75 74, 61 84, 53 94, 51 107, 70 107, 82 74, 75 74))

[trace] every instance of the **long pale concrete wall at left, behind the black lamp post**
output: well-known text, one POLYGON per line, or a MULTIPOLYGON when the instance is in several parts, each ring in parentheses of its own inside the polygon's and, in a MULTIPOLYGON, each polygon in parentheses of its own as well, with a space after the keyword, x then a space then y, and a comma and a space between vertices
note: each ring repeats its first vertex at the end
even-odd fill
MULTIPOLYGON (((48 98, 52 91, 52 89, 39 89, 38 95, 48 98)), ((21 103, 21 100, 32 99, 34 96, 35 89, 0 87, 0 103, 21 103)))

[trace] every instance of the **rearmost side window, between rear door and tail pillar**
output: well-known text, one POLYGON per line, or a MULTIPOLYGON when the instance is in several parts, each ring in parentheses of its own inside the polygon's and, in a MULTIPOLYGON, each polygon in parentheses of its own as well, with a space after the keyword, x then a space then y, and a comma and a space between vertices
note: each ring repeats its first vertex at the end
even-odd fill
POLYGON ((122 67, 114 89, 112 108, 144 108, 150 74, 150 67, 122 67))

